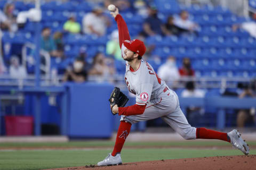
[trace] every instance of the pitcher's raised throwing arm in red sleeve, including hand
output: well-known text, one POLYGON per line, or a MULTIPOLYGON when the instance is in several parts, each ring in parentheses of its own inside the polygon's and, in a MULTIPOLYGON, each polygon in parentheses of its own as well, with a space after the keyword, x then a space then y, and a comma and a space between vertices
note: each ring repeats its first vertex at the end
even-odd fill
POLYGON ((129 30, 127 28, 127 25, 122 17, 122 15, 119 14, 118 8, 116 7, 115 12, 110 12, 110 14, 115 18, 117 22, 118 27, 118 34, 119 34, 119 46, 122 48, 122 44, 124 40, 131 40, 129 35, 129 30))

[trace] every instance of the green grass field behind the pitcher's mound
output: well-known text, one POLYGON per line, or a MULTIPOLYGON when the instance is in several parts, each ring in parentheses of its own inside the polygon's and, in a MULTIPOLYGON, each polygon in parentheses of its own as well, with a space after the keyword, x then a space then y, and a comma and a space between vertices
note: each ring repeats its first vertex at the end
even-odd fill
MULTIPOLYGON (((256 142, 248 142, 255 148, 256 142)), ((86 141, 67 143, 0 143, 0 148, 38 148, 38 150, 1 150, 0 169, 46 169, 97 164, 114 146, 112 141, 86 141), (70 148, 69 150, 40 150, 40 148, 70 148), (95 147, 106 147, 95 148, 95 147), (78 148, 78 149, 71 149, 78 148), (79 149, 85 148, 85 149, 79 149)), ((146 160, 178 159, 209 156, 242 155, 236 149, 198 149, 195 147, 230 146, 221 141, 127 142, 122 150, 123 163, 146 160), (147 148, 129 148, 133 146, 147 148), (180 148, 168 148, 168 147, 180 148), (182 148, 191 146, 192 148, 182 148), (161 148, 166 147, 166 148, 161 148), (193 148, 194 147, 194 148, 193 148)), ((256 154, 256 150, 250 150, 256 154)))

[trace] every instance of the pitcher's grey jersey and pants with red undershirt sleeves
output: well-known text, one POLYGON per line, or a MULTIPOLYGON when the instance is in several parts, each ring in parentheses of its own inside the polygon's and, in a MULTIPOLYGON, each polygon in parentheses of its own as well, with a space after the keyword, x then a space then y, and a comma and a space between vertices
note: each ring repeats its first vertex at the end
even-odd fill
MULTIPOLYGON (((124 56, 124 42, 132 44, 126 23, 121 15, 115 18, 119 32, 119 45, 124 56)), ((175 131, 186 139, 196 139, 196 128, 191 127, 182 113, 177 94, 170 90, 155 73, 153 67, 144 60, 137 70, 126 62, 125 83, 130 92, 136 95, 136 104, 119 107, 121 121, 131 124, 161 117, 175 131)))

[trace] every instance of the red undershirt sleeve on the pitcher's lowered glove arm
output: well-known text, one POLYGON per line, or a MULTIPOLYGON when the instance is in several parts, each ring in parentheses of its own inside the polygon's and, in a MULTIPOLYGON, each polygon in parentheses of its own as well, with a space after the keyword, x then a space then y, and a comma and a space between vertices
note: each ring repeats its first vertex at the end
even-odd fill
POLYGON ((141 115, 144 113, 146 105, 132 105, 127 107, 118 107, 118 115, 141 115))

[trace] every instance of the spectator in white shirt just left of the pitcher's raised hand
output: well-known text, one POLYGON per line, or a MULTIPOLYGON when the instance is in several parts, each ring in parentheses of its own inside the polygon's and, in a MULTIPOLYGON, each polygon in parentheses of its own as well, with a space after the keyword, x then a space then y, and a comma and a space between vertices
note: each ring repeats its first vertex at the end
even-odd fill
POLYGON ((103 36, 109 24, 109 19, 103 16, 102 8, 96 6, 83 18, 83 33, 103 36))

